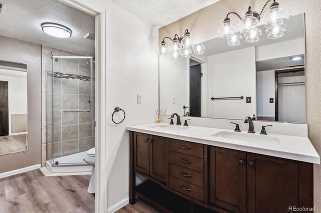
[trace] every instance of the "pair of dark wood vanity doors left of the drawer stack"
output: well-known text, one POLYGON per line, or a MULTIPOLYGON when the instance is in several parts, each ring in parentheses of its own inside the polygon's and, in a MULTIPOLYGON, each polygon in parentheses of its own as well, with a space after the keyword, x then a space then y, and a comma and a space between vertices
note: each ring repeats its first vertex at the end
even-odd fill
POLYGON ((161 182, 168 176, 168 138, 133 133, 134 169, 161 182))

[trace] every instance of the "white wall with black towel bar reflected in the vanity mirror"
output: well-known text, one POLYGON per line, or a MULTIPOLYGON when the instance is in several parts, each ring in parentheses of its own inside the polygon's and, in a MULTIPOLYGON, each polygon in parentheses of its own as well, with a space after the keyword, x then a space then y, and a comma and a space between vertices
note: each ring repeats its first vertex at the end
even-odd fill
POLYGON ((208 84, 211 97, 244 99, 209 100, 209 116, 245 119, 256 113, 256 73, 254 47, 208 56, 208 84), (251 103, 246 103, 246 96, 251 103))

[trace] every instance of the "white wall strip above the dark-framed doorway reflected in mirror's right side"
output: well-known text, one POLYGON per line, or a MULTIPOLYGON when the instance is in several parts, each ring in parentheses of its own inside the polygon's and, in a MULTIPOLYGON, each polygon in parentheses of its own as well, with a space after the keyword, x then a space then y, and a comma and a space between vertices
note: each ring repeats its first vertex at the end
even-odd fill
POLYGON ((266 60, 270 58, 285 57, 290 55, 304 54, 304 38, 298 38, 285 42, 259 46, 255 48, 255 60, 266 60), (278 51, 275 51, 278 49, 278 51), (281 51, 280 51, 281 50, 281 51), (273 54, 271 54, 273 52, 273 54))

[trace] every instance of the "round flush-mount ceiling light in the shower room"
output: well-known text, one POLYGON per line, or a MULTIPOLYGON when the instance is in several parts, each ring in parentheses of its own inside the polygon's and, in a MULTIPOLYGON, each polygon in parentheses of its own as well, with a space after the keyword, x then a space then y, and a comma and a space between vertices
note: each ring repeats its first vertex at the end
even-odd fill
POLYGON ((70 37, 72 33, 71 29, 67 26, 58 23, 46 22, 42 23, 41 27, 44 32, 54 37, 67 38, 70 37))

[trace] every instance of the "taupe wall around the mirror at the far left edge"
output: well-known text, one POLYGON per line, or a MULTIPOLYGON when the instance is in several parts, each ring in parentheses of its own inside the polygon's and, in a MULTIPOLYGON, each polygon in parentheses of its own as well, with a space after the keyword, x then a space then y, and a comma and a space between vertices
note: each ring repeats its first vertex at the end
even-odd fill
POLYGON ((41 162, 41 45, 0 36, 0 59, 27 62, 28 151, 0 156, 0 173, 41 162))

